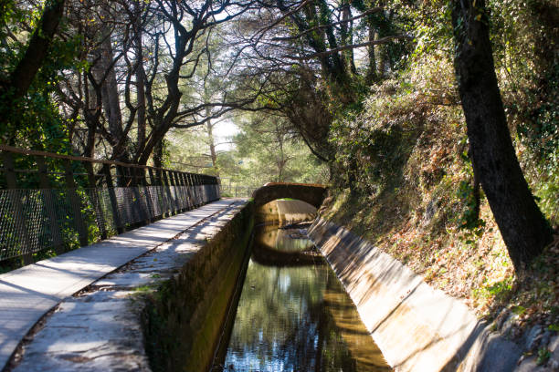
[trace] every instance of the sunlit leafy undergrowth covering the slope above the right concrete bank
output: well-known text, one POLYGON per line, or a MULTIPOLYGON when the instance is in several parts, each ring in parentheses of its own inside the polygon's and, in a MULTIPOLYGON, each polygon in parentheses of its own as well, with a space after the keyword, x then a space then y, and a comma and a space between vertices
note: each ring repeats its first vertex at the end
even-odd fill
MULTIPOLYGON (((517 133, 520 124, 512 119, 511 126, 517 133)), ((339 172, 325 218, 463 299, 481 318, 516 314, 512 336, 535 322, 559 328, 558 240, 526 277, 515 275, 483 193, 479 208, 472 199, 466 126, 448 57, 420 57, 374 88, 360 113, 334 126, 332 142, 339 172)), ((542 158, 525 138, 515 142, 536 201, 556 229, 559 168, 549 163, 559 164, 559 150, 542 158)))

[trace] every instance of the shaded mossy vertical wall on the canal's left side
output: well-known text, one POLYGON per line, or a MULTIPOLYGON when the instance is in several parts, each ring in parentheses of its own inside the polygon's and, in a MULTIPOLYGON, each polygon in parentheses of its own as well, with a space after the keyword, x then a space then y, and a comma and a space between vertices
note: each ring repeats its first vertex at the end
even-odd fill
POLYGON ((253 204, 227 225, 146 299, 145 346, 153 371, 207 370, 248 258, 253 204))

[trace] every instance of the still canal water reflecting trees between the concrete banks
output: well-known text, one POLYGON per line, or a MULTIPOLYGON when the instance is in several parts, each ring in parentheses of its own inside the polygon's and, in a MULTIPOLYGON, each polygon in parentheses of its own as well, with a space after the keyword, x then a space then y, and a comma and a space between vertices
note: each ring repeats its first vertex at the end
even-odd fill
POLYGON ((304 231, 261 226, 212 371, 390 371, 304 231))

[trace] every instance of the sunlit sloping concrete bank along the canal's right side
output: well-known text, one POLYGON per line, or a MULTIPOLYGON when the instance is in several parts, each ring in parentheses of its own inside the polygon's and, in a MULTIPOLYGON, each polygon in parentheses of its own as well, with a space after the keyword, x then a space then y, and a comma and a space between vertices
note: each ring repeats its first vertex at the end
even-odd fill
POLYGON ((490 333, 468 306, 373 244, 318 218, 309 229, 397 371, 512 371, 521 349, 490 333))

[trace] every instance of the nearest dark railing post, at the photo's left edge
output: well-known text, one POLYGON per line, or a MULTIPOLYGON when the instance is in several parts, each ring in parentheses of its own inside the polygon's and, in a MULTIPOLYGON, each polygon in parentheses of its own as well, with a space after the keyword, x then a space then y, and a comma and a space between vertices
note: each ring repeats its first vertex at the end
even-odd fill
POLYGON ((26 215, 24 213, 23 204, 17 189, 16 170, 14 167, 14 158, 8 151, 2 151, 4 160, 4 174, 7 188, 11 190, 8 193, 8 199, 14 203, 14 221, 16 222, 16 233, 21 237, 20 255, 23 257, 24 264, 33 263, 33 256, 30 252, 32 246, 29 240, 29 232, 27 231, 26 215))

